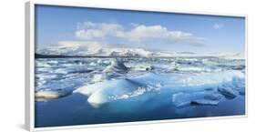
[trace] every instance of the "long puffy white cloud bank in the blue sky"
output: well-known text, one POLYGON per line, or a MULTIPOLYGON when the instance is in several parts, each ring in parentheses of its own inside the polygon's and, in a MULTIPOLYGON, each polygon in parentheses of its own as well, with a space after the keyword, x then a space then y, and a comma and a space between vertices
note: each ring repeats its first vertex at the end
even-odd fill
POLYGON ((77 25, 76 36, 81 40, 98 41, 110 36, 136 43, 159 40, 165 44, 203 46, 203 38, 183 31, 171 31, 162 25, 131 24, 131 29, 127 30, 118 24, 84 22, 77 25))

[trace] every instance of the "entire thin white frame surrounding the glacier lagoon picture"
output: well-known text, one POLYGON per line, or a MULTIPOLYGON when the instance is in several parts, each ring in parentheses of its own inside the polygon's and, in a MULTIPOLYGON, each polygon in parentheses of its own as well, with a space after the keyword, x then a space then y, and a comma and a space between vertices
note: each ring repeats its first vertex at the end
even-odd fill
POLYGON ((201 120, 216 120, 216 119, 231 119, 248 117, 248 15, 238 14, 222 14, 201 11, 180 11, 159 8, 145 8, 132 6, 112 6, 112 5, 92 5, 80 3, 56 3, 31 0, 25 3, 25 128, 28 131, 41 130, 57 130, 70 128, 88 128, 88 127, 115 127, 115 126, 131 126, 131 125, 146 125, 172 122, 187 122, 187 121, 201 121, 201 120), (245 18, 245 115, 241 116, 223 116, 223 117, 193 117, 180 119, 165 119, 165 120, 150 120, 150 121, 134 121, 121 123, 106 123, 93 125, 76 125, 63 127, 35 127, 35 5, 56 5, 56 6, 70 6, 70 7, 89 7, 99 9, 116 9, 129 11, 145 11, 155 13, 173 13, 185 15, 215 15, 215 16, 231 16, 245 18))

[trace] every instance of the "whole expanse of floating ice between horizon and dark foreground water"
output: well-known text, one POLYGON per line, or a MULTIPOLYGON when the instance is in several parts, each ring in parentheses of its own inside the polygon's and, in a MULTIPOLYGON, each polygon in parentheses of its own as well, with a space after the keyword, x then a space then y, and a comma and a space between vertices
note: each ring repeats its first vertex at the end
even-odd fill
POLYGON ((73 92, 87 96, 85 101, 92 107, 127 112, 161 106, 215 106, 245 95, 246 70, 240 60, 131 57, 36 62, 36 101, 73 92))

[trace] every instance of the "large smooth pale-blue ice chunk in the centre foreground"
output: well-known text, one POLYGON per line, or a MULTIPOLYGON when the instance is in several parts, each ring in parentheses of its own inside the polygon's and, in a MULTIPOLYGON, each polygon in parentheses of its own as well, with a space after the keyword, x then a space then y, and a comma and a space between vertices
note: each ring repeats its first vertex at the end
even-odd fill
POLYGON ((152 86, 149 85, 150 83, 145 85, 134 79, 119 79, 83 86, 77 88, 74 93, 88 96, 88 103, 93 107, 100 107, 102 104, 108 102, 141 96, 145 92, 158 91, 161 85, 159 83, 151 83, 153 84, 152 86))

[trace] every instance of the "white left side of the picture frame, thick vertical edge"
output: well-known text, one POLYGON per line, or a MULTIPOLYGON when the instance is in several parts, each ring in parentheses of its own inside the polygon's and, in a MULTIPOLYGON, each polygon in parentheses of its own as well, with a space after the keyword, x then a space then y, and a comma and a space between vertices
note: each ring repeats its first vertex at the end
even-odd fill
POLYGON ((25 128, 35 130, 35 3, 25 5, 25 128))

